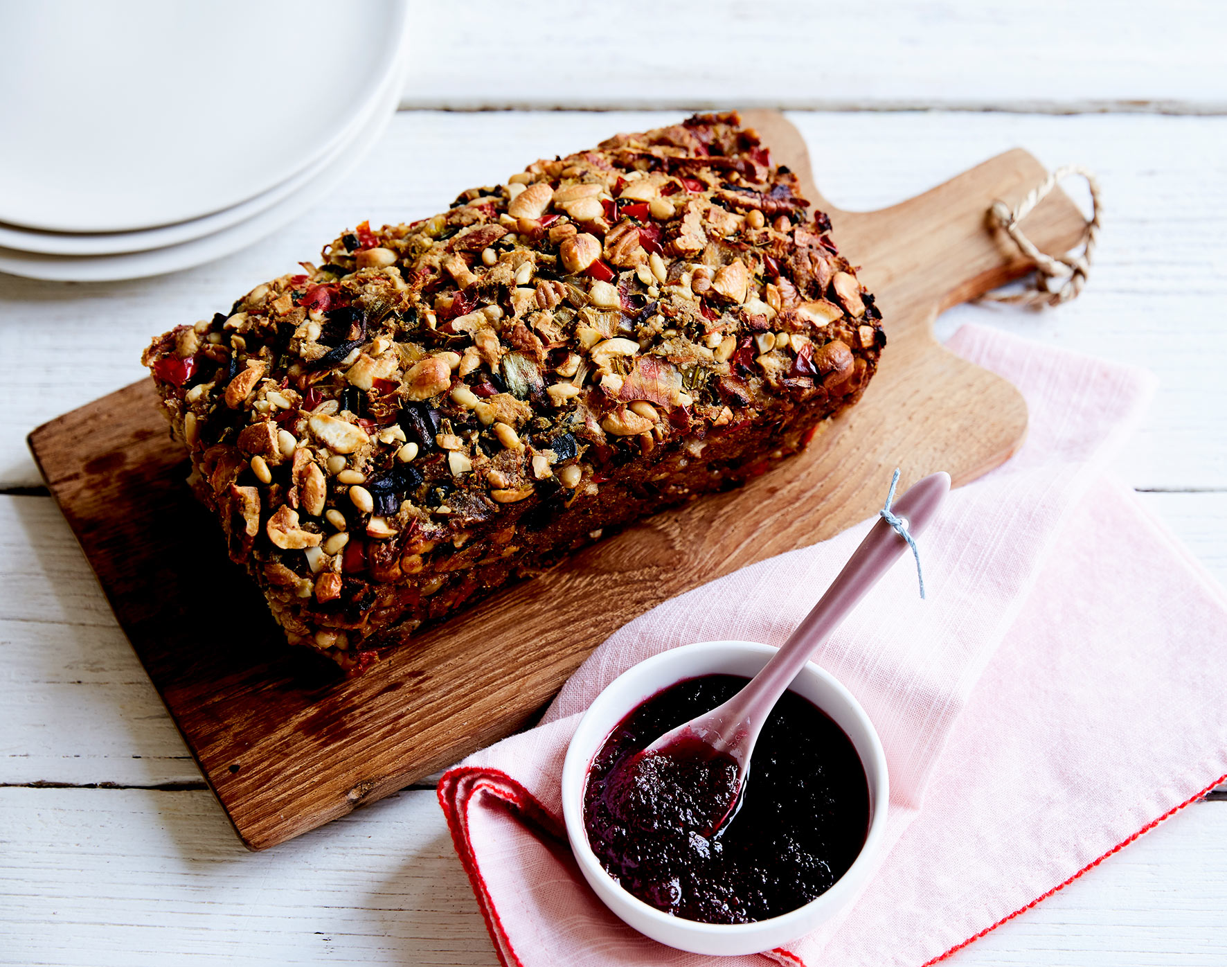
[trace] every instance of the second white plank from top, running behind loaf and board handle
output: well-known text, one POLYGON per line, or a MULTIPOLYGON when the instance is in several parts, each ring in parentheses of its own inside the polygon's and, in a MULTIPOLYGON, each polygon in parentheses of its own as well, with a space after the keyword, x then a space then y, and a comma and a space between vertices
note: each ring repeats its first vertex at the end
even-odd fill
MULTIPOLYGON (((328 200, 247 252, 135 282, 0 276, 0 487, 40 482, 25 441, 33 426, 140 378, 140 352, 155 333, 229 306, 236 292, 292 269, 339 227, 366 216, 422 217, 458 184, 497 182, 539 155, 676 117, 401 113, 328 200)), ((1145 487, 1227 487, 1218 417, 1227 404, 1227 275, 1216 269, 1227 259, 1227 118, 802 113, 793 120, 825 194, 852 210, 894 204, 1017 144, 1047 164, 1082 161, 1098 171, 1108 212, 1083 296, 1039 314, 962 306, 940 317, 939 331, 988 323, 1153 369, 1160 393, 1121 465, 1125 477, 1145 487), (1174 337, 1173 320, 1185 337, 1174 337)))

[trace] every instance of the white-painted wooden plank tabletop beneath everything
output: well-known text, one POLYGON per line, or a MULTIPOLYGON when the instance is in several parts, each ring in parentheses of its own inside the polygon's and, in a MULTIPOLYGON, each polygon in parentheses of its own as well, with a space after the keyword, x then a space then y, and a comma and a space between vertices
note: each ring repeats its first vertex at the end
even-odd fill
MULTIPOLYGON (((194 271, 113 285, 0 276, 0 962, 494 962, 429 788, 269 853, 239 846, 40 488, 25 434, 140 378, 152 334, 314 258, 342 226, 420 217, 537 156, 687 106, 826 109, 793 118, 823 191, 845 207, 897 201, 1015 145, 1096 168, 1107 227, 1083 297, 1039 315, 961 307, 939 329, 975 320, 1153 369, 1158 396, 1118 472, 1227 580, 1221 5, 1145 16, 1106 4, 1064 16, 799 5, 796 22, 788 6, 600 5, 573 20, 540 2, 423 6, 404 106, 517 110, 402 110, 328 202, 194 271), (680 27, 696 39, 661 45, 680 27), (488 37, 507 50, 461 43, 488 37), (665 110, 539 110, 556 107, 665 110)), ((1225 798, 952 963, 1227 963, 1225 798)))

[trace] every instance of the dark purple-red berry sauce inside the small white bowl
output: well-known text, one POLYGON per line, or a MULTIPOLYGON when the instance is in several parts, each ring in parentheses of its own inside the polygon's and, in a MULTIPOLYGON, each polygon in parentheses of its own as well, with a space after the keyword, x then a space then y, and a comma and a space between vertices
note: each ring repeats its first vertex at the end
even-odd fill
POLYGON ((869 832, 869 783, 852 740, 794 692, 755 746, 730 819, 736 767, 724 756, 638 753, 731 698, 748 679, 704 675, 654 695, 593 760, 584 790, 588 842, 625 890, 701 923, 751 923, 796 909, 847 873, 869 832))

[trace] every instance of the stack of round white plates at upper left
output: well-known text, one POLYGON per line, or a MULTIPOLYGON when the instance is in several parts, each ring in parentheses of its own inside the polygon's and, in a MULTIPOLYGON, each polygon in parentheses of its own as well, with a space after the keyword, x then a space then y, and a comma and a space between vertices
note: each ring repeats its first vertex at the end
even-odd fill
POLYGON ((396 109, 406 0, 0 0, 0 271, 103 281, 236 252, 396 109))

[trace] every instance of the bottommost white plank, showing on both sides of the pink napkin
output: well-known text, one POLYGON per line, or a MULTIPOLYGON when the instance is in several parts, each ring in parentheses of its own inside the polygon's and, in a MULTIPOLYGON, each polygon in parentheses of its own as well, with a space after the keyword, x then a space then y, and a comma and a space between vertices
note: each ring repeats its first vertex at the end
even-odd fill
MULTIPOLYGON (((4 963, 496 963, 432 792, 258 855, 207 793, 0 789, 0 828, 4 963)), ((1225 868, 1190 806, 950 963, 1221 965, 1225 868)))

